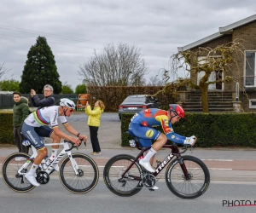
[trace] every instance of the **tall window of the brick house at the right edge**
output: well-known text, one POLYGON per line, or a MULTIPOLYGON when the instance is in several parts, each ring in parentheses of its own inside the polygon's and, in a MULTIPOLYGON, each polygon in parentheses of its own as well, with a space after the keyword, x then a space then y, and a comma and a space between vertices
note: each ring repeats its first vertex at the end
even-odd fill
POLYGON ((245 86, 256 86, 255 81, 255 52, 246 52, 246 60, 245 60, 245 86))

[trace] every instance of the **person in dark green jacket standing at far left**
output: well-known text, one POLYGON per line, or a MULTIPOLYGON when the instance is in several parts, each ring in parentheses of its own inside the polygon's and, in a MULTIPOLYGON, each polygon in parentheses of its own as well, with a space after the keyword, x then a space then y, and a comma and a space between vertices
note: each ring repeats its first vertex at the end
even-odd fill
MULTIPOLYGON (((21 97, 19 92, 14 92, 13 98, 15 101, 13 108, 14 141, 18 147, 19 153, 28 153, 29 147, 22 145, 24 136, 20 133, 23 121, 31 113, 28 107, 28 100, 25 97, 21 97)), ((15 160, 20 161, 24 160, 24 158, 17 157, 15 160)))

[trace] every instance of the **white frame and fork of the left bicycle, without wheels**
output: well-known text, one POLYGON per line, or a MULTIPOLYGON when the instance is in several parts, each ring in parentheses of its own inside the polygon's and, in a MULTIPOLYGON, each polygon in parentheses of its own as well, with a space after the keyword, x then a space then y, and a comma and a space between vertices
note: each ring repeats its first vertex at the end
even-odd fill
MULTIPOLYGON (((48 175, 50 175, 54 169, 55 169, 55 165, 58 164, 61 159, 65 156, 65 154, 67 153, 68 155, 68 158, 70 158, 70 162, 72 163, 72 166, 73 166, 73 170, 75 171, 76 175, 79 174, 78 172, 78 164, 76 164, 76 162, 73 160, 73 157, 72 157, 72 153, 71 153, 71 149, 72 148, 69 148, 67 142, 62 142, 62 143, 48 143, 48 144, 44 144, 45 147, 49 147, 49 146, 55 146, 55 145, 61 145, 63 146, 64 148, 62 149, 61 153, 58 154, 58 156, 54 159, 54 161, 49 164, 49 166, 47 167, 46 170, 44 170, 48 175)), ((32 156, 30 156, 29 159, 26 160, 26 163, 23 164, 21 167, 20 167, 20 170, 18 170, 18 174, 19 175, 25 175, 26 173, 24 172, 21 172, 23 169, 26 169, 26 167, 28 166, 28 164, 30 162, 33 162, 33 159, 36 158, 38 156, 38 151, 35 147, 31 146, 32 147, 32 156)), ((42 163, 42 162, 41 162, 42 163)))

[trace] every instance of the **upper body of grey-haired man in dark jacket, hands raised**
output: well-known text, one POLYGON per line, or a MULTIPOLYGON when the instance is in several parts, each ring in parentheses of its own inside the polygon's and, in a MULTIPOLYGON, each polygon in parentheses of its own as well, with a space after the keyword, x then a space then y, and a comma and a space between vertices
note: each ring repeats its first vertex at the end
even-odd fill
POLYGON ((36 91, 34 89, 31 89, 33 107, 43 108, 43 107, 54 106, 55 98, 52 94, 53 94, 53 88, 49 84, 46 84, 44 86, 44 99, 42 100, 38 98, 36 91))

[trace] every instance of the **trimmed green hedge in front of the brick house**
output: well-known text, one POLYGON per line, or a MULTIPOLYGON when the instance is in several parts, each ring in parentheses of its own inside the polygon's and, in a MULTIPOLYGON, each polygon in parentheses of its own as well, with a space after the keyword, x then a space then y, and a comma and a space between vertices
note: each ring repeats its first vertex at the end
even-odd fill
MULTIPOLYGON (((128 147, 126 134, 133 114, 122 114, 122 146, 128 147)), ((173 125, 179 135, 197 136, 195 147, 256 147, 256 113, 186 113, 173 125)), ((158 130, 162 131, 161 128, 158 130)))

